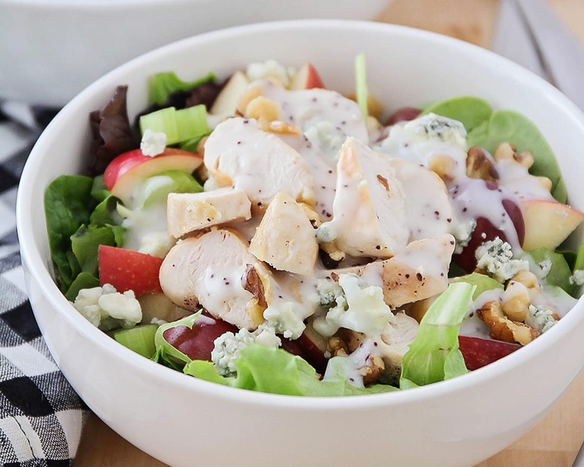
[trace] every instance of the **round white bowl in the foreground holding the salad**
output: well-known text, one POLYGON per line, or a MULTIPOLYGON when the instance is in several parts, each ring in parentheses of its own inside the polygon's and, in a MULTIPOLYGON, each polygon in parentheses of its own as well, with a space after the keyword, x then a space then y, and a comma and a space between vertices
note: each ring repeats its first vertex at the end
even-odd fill
POLYGON ((584 305, 534 343, 460 378, 352 398, 243 391, 152 363, 99 332, 68 304, 49 273, 43 191, 77 173, 89 145, 89 111, 130 85, 135 114, 147 76, 172 69, 227 76, 250 61, 313 62, 333 89, 353 89, 367 57, 369 87, 390 108, 477 95, 526 114, 557 154, 570 200, 584 209, 584 116, 542 79, 482 48, 406 27, 363 22, 267 23, 204 34, 144 55, 71 101, 30 154, 18 198, 27 287, 61 370, 91 409, 138 448, 171 465, 468 466, 505 448, 541 419, 584 363, 584 305))

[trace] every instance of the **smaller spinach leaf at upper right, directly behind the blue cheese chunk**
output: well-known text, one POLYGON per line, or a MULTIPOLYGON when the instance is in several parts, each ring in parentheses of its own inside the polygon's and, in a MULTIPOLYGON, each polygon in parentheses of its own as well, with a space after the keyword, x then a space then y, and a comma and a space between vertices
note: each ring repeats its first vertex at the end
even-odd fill
POLYGON ((422 115, 435 113, 449 119, 458 120, 464 125, 467 133, 491 118, 493 109, 486 100, 472 96, 453 97, 432 104, 422 112, 422 115))

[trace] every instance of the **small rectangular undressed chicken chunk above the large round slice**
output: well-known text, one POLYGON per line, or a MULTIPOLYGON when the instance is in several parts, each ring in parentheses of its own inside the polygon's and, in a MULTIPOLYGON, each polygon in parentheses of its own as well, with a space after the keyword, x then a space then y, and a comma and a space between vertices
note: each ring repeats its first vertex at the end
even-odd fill
POLYGON ((244 191, 231 187, 203 193, 170 193, 166 204, 168 233, 180 238, 213 225, 251 218, 244 191))

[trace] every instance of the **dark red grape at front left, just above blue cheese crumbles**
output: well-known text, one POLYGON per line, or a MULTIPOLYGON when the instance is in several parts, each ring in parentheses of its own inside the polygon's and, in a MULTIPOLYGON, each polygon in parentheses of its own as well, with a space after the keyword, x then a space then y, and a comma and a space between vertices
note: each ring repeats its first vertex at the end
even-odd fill
POLYGON ((166 329, 162 334, 164 339, 192 360, 211 361, 211 351, 215 347, 213 341, 226 332, 237 334, 239 329, 221 319, 204 316, 208 319, 198 320, 193 329, 187 326, 166 329))

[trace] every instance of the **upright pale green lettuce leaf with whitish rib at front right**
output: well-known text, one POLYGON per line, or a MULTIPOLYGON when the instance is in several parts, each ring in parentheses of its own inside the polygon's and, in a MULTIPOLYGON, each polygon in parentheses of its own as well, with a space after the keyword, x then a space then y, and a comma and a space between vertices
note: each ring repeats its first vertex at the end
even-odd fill
POLYGON ((468 372, 458 349, 458 332, 475 287, 464 282, 450 284, 430 306, 402 360, 401 389, 444 381, 468 372))

